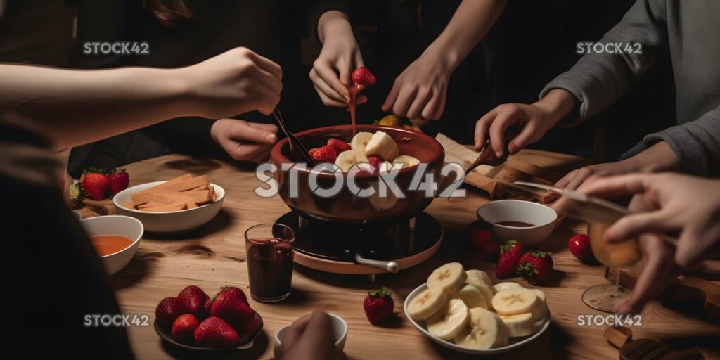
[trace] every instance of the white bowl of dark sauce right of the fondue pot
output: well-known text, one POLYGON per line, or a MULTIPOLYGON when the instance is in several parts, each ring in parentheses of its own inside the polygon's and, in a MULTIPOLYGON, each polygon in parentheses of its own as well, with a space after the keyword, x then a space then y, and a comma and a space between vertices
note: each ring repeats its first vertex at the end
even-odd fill
POLYGON ((498 200, 477 208, 477 218, 490 222, 492 233, 501 241, 518 240, 523 246, 534 246, 545 240, 555 228, 557 212, 552 207, 523 200, 498 200), (498 222, 519 221, 535 226, 518 228, 498 222))

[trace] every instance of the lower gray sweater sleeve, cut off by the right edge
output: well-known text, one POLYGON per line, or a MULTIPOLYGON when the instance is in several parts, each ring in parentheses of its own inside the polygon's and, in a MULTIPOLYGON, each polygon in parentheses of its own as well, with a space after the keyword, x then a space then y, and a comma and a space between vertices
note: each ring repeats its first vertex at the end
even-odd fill
POLYGON ((720 107, 698 120, 647 135, 643 141, 646 145, 665 141, 689 174, 720 175, 720 107))

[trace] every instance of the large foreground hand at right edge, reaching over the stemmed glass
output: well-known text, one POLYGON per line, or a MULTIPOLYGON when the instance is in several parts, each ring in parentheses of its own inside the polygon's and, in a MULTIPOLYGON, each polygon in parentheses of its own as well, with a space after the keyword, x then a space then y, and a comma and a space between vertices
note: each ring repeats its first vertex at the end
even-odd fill
POLYGON ((675 264, 690 270, 720 253, 720 181, 662 173, 614 176, 583 186, 598 197, 634 195, 631 215, 605 232, 614 242, 651 233, 678 238, 675 264))

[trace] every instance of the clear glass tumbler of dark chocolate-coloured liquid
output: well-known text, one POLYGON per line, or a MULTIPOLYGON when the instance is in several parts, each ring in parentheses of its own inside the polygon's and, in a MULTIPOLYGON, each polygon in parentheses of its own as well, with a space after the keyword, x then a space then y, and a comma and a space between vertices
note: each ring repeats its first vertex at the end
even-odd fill
POLYGON ((245 232, 250 294, 259 302, 278 302, 292 289, 295 233, 282 224, 260 224, 245 232))

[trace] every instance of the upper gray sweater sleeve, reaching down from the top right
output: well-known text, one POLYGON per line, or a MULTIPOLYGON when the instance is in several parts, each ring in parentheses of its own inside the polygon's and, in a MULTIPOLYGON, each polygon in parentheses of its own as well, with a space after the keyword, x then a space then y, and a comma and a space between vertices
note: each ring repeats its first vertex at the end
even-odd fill
MULTIPOLYGON (((623 19, 599 41, 614 53, 595 52, 592 46, 574 66, 561 73, 540 93, 542 99, 552 89, 570 91, 578 100, 579 112, 570 114, 560 126, 572 126, 597 114, 623 96, 657 60, 667 47, 665 1, 637 0, 623 19), (624 51, 618 53, 615 45, 624 51), (639 44, 639 45, 635 45, 639 44), (640 53, 637 50, 639 46, 640 53)), ((582 43, 577 45, 580 50, 582 43)), ((599 45, 598 45, 599 46, 599 45)))

